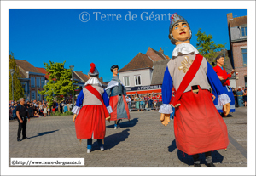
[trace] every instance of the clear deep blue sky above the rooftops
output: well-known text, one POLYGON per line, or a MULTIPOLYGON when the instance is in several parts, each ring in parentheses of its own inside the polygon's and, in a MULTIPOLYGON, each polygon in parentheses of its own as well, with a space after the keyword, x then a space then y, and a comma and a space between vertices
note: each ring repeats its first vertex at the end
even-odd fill
POLYGON ((110 81, 112 65, 121 69, 148 47, 172 57, 173 13, 189 22, 192 45, 201 28, 230 49, 227 14, 244 16, 247 9, 9 9, 9 52, 35 67, 66 61, 65 68, 74 65, 84 74, 93 62, 103 81, 110 81))

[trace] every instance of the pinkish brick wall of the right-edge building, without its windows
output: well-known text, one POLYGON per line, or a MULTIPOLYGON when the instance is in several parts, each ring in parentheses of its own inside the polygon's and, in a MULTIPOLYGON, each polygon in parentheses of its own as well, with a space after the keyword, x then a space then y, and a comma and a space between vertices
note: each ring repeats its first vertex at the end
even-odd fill
MULTIPOLYGON (((247 41, 231 43, 231 47, 233 51, 235 70, 238 72, 238 75, 236 75, 236 88, 238 88, 238 86, 244 87, 244 77, 247 76, 247 66, 243 65, 241 48, 247 48, 247 41)), ((247 60, 249 60, 248 57, 247 60)))

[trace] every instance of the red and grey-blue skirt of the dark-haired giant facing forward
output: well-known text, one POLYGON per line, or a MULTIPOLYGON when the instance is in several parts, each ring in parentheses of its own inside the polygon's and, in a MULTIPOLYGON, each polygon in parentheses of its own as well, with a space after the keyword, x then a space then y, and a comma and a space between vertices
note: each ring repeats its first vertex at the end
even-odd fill
POLYGON ((130 112, 128 105, 125 100, 125 96, 123 96, 123 102, 119 102, 119 95, 110 97, 109 99, 109 105, 112 107, 113 112, 110 115, 110 120, 111 121, 116 121, 119 119, 130 119, 130 112), (118 114, 118 109, 121 108, 121 111, 119 111, 118 114))

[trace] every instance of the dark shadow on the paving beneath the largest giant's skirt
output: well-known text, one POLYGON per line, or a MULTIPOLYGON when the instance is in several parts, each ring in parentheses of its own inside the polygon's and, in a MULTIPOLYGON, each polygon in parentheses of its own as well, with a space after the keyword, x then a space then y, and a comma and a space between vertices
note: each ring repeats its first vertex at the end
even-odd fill
MULTIPOLYGON (((173 152, 176 148, 177 148, 176 141, 174 139, 172 141, 172 144, 168 147, 168 151, 173 152)), ((177 150, 177 157, 181 162, 188 164, 189 166, 194 165, 193 157, 189 156, 188 154, 184 153, 181 150, 177 150)), ((207 164, 206 156, 204 153, 199 154, 199 159, 200 159, 201 164, 205 164, 205 165, 207 164)), ((218 153, 217 150, 212 151, 212 162, 213 163, 216 163, 216 162, 221 163, 223 161, 223 159, 224 159, 224 156, 222 156, 220 153, 218 153)))

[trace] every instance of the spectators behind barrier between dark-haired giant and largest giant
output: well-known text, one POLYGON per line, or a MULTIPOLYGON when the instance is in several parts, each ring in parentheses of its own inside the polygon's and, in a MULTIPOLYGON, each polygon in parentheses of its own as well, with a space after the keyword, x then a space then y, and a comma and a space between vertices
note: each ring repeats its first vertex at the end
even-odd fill
POLYGON ((162 105, 162 95, 152 94, 131 94, 125 97, 130 111, 150 111, 159 110, 162 105))

